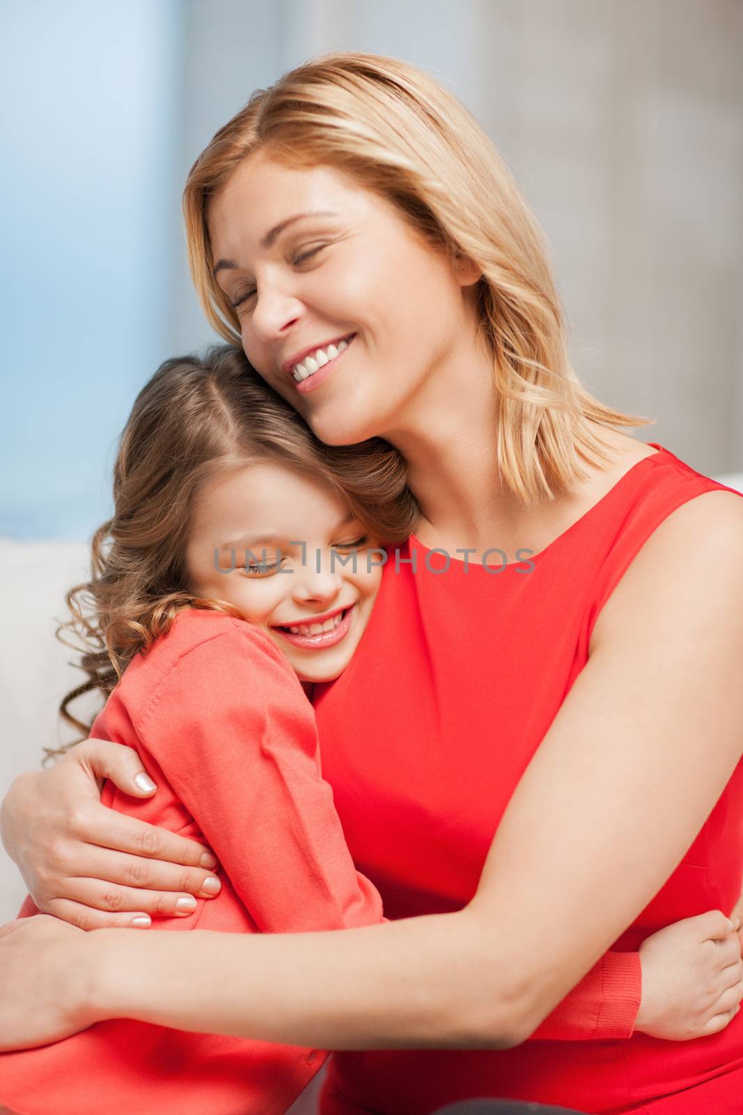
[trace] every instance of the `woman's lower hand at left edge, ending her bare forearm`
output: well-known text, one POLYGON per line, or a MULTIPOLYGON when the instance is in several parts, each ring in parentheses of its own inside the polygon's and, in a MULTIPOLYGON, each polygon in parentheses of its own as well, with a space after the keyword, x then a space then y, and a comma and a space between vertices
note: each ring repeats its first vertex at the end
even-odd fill
POLYGON ((88 940, 45 914, 0 927, 0 1051, 48 1045, 98 1020, 86 1002, 88 940))

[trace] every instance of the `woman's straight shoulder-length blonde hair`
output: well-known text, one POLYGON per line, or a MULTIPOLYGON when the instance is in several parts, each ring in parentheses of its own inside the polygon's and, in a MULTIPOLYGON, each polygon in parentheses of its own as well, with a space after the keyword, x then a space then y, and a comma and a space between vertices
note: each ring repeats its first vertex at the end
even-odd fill
POLYGON ((587 477, 579 457, 610 463, 595 426, 654 423, 598 401, 575 375, 541 233, 482 128, 428 74, 379 55, 334 51, 291 70, 257 90, 194 164, 183 198, 189 265, 222 337, 239 343, 235 311, 212 275, 208 205, 258 151, 352 175, 433 248, 481 270, 478 328, 492 353, 496 449, 519 500, 570 491, 587 477))

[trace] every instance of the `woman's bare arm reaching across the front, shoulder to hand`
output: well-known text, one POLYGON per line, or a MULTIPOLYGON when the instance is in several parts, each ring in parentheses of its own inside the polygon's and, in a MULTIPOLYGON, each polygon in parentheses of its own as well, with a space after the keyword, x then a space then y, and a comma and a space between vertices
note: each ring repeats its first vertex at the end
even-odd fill
MULTIPOLYGON (((9 979, 0 1041, 23 1025, 48 1034, 60 1009, 78 1028, 125 1015, 339 1049, 524 1040, 659 890, 740 759, 743 505, 733 498, 684 504, 623 576, 463 910, 234 939, 102 930, 62 942, 42 925, 43 952, 13 923, 0 970, 43 957, 33 990, 46 1008, 13 1025, 23 991, 9 979), (65 1008, 45 978, 67 993, 65 1008)), ((721 927, 707 917, 712 942, 721 927)), ((710 947, 730 956, 723 967, 740 964, 727 939, 710 947)), ((740 985, 720 997, 708 1032, 739 999, 740 985)))

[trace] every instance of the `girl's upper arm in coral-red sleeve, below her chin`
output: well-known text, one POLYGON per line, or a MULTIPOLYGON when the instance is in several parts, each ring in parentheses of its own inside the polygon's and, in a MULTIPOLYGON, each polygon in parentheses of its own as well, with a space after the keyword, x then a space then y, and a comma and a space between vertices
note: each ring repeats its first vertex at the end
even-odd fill
POLYGON ((382 921, 382 900, 354 867, 321 775, 312 706, 286 660, 242 621, 197 612, 177 622, 197 641, 135 720, 145 765, 156 760, 262 932, 382 921))

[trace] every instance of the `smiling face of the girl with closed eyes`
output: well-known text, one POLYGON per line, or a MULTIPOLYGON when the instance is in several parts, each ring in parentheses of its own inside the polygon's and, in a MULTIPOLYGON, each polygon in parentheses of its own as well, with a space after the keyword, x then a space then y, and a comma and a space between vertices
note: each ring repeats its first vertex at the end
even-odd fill
POLYGON ((277 462, 237 466, 196 501, 192 591, 265 631, 301 681, 332 681, 351 661, 381 580, 368 552, 377 542, 363 530, 324 481, 277 462))

